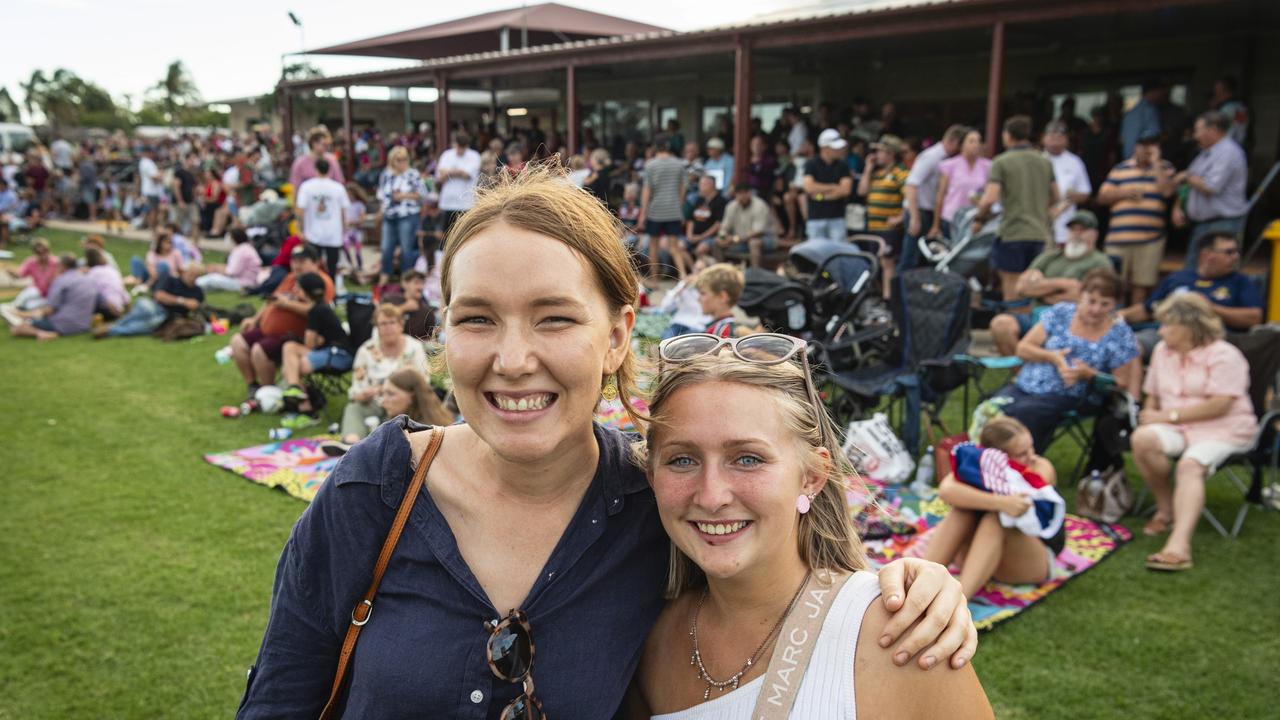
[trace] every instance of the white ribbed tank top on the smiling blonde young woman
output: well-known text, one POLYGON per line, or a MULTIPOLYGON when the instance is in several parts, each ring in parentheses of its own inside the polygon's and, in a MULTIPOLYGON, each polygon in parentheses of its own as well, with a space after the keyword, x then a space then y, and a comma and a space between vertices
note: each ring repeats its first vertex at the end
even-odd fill
MULTIPOLYGON (((858 629, 873 600, 879 597, 879 578, 865 570, 854 573, 840 589, 822 624, 809 669, 800 682, 791 717, 804 720, 854 720, 854 652, 858 629)), ((764 675, 689 710, 654 715, 652 720, 749 720, 760 694, 764 675)))

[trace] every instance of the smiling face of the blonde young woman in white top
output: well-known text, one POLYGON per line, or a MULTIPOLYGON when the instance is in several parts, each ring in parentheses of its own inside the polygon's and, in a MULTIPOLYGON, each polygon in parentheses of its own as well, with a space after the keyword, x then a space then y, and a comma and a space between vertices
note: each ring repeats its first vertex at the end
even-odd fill
POLYGON ((774 391, 704 382, 676 391, 654 433, 650 477, 663 528, 708 575, 794 559, 796 496, 817 492, 774 391))

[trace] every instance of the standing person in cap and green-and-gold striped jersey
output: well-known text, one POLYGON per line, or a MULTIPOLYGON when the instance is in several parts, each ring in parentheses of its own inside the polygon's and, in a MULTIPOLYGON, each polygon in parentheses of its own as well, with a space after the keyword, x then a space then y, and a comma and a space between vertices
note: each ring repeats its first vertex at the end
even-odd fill
POLYGON ((896 135, 882 135, 872 145, 867 158, 867 172, 858 181, 858 195, 867 197, 867 232, 884 241, 881 269, 881 292, 888 300, 893 287, 893 270, 899 256, 906 255, 902 246, 902 188, 909 176, 902 164, 905 143, 896 135))

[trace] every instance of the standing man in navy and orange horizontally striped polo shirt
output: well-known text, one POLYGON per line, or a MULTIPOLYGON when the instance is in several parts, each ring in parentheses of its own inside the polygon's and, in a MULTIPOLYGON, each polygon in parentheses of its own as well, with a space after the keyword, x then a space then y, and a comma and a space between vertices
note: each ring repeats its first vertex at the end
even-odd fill
POLYGON ((1120 258, 1120 274, 1142 304, 1160 279, 1165 255, 1166 200, 1174 193, 1174 165, 1160 156, 1160 136, 1138 140, 1133 158, 1111 169, 1098 202, 1111 205, 1107 255, 1120 258))

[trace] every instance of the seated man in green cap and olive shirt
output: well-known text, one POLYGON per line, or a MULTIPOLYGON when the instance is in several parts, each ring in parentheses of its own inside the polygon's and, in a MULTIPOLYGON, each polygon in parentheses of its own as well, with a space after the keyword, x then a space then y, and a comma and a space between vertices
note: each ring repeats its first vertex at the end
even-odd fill
POLYGON ((1066 242, 1039 254, 1018 278, 1018 297, 1032 299, 1032 313, 1001 313, 991 319, 991 337, 996 351, 1014 355, 1018 341, 1032 329, 1037 310, 1057 302, 1080 299, 1080 281, 1097 268, 1111 269, 1111 259, 1097 249, 1098 218, 1078 210, 1066 222, 1066 242))

